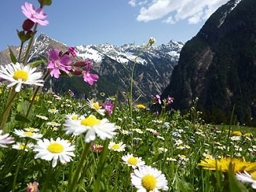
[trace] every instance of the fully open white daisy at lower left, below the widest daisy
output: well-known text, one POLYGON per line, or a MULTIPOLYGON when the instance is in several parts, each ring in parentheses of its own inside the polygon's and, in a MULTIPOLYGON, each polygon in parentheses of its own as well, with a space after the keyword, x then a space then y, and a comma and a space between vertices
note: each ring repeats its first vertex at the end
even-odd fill
POLYGON ((57 138, 56 141, 52 138, 39 140, 34 146, 34 151, 38 152, 35 159, 52 160, 53 167, 57 165, 57 159, 60 159, 61 163, 68 163, 74 156, 74 146, 71 145, 71 142, 60 138, 57 138))

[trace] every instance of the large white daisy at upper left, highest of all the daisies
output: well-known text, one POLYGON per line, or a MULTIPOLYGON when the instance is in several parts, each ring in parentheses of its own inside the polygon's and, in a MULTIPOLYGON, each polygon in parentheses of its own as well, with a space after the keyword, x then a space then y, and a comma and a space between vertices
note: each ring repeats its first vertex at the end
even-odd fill
POLYGON ((22 63, 9 63, 5 67, 1 66, 0 77, 10 82, 7 87, 16 85, 16 92, 21 90, 22 84, 43 86, 43 80, 40 79, 43 74, 35 72, 36 67, 24 66, 22 63))

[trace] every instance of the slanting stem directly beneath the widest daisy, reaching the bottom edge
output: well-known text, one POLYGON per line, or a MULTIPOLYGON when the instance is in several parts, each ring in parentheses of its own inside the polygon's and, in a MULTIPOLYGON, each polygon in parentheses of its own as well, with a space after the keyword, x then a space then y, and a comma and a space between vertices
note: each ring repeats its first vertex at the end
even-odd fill
POLYGON ((80 161, 78 163, 77 169, 74 172, 73 180, 72 180, 71 184, 68 183, 68 185, 67 185, 67 192, 75 191, 76 184, 78 182, 78 178, 79 178, 79 175, 80 175, 80 172, 81 172, 81 168, 85 163, 85 157, 88 153, 88 149, 90 148, 90 146, 91 146, 91 142, 85 143, 85 147, 84 147, 83 152, 81 153, 81 157, 80 157, 80 161))

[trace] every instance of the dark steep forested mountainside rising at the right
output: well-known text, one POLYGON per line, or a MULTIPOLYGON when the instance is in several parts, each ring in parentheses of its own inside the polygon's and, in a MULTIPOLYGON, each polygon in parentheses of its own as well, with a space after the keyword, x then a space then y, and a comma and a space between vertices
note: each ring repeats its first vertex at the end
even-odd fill
POLYGON ((230 0, 183 46, 162 98, 188 110, 199 98, 208 122, 256 122, 256 1, 230 0))

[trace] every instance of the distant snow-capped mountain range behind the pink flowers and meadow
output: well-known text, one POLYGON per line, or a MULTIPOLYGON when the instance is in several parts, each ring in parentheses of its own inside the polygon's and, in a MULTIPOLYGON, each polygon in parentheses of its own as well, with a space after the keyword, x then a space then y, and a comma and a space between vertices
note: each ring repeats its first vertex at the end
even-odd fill
MULTIPOLYGON (((63 94, 70 89, 78 97, 89 98, 99 97, 101 93, 111 96, 119 90, 123 94, 123 98, 126 98, 125 92, 130 88, 131 68, 135 57, 140 53, 134 75, 133 98, 149 102, 152 95, 161 93, 168 85, 171 72, 178 63, 182 46, 182 43, 173 40, 161 46, 153 45, 144 51, 142 51, 143 46, 134 46, 133 44, 114 46, 103 43, 76 46, 78 57, 94 61, 93 70, 95 74, 99 74, 99 81, 90 87, 82 81, 82 78, 61 77, 53 80, 52 86, 57 93, 63 94)), ((29 60, 38 59, 40 55, 45 55, 47 50, 52 48, 66 50, 66 47, 64 43, 41 33, 34 40, 29 60)), ((18 53, 18 47, 13 46, 12 51, 18 53)), ((9 62, 9 51, 0 52, 0 64, 4 65, 9 62)), ((46 84, 46 87, 49 88, 49 83, 46 84)))

